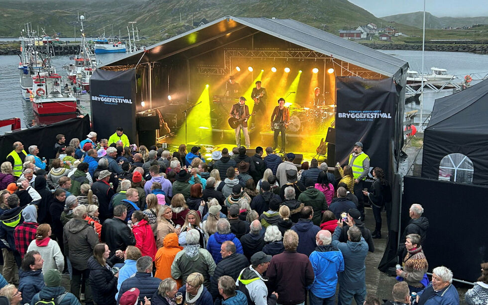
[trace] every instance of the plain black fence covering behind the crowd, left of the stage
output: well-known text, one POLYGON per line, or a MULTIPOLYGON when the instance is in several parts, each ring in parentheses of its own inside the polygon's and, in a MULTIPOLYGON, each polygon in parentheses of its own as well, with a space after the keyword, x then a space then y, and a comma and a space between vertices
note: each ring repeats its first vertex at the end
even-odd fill
POLYGON ((13 150, 13 143, 17 141, 22 142, 27 153, 30 145, 37 145, 39 157, 52 159, 56 157, 56 152, 54 151, 56 135, 64 134, 67 145, 73 138, 86 139, 86 135, 89 132, 90 116, 88 115, 70 118, 49 125, 9 132, 0 136, 0 160, 1 162, 5 161, 7 155, 13 150))

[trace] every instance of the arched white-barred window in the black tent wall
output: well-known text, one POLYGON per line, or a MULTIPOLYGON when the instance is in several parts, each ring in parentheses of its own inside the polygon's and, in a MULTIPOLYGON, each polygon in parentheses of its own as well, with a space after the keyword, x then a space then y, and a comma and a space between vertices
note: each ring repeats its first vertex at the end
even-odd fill
POLYGON ((473 162, 463 154, 449 154, 439 165, 439 180, 459 183, 473 183, 473 162))

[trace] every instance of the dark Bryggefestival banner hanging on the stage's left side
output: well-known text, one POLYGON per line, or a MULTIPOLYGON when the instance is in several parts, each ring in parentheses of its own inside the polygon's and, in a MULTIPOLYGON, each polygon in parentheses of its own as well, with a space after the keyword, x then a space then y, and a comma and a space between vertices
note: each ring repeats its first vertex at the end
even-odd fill
POLYGON ((135 92, 135 69, 95 70, 90 78, 90 101, 98 140, 108 139, 122 127, 130 143, 137 142, 135 92))

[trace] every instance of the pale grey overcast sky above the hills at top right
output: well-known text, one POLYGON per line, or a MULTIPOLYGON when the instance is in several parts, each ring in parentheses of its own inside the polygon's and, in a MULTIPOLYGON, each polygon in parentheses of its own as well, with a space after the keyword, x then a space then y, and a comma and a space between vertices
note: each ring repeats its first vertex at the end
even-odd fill
MULTIPOLYGON (((424 0, 349 0, 376 17, 423 11, 424 0)), ((437 17, 478 17, 488 15, 486 0, 426 0, 425 10, 437 17)))

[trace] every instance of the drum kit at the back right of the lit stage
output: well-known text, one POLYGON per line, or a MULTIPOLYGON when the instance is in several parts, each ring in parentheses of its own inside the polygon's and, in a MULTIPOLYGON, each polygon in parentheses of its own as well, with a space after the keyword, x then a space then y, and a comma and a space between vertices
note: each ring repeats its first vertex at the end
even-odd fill
POLYGON ((293 124, 288 130, 297 132, 300 129, 316 129, 329 127, 330 118, 336 113, 336 105, 319 105, 311 107, 294 107, 290 109, 290 120, 293 124), (293 126, 292 126, 293 125, 293 126), (326 126, 327 125, 327 126, 326 126))

